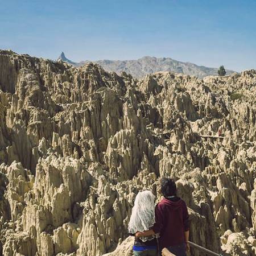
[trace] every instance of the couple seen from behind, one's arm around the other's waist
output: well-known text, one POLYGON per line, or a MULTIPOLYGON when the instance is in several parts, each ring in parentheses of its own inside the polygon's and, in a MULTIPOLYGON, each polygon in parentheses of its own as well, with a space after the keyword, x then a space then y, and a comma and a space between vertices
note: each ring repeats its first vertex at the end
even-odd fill
POLYGON ((189 250, 189 216, 185 202, 177 197, 176 184, 163 179, 163 199, 155 207, 155 196, 150 191, 139 192, 134 201, 128 226, 135 236, 135 256, 160 255, 167 248, 176 256, 189 250))

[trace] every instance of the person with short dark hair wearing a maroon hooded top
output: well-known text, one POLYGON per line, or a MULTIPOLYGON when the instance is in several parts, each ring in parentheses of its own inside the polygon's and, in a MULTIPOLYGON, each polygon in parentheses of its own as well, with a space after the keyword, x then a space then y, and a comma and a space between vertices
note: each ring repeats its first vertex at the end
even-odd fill
POLYGON ((164 178, 161 183, 164 198, 155 207, 155 224, 147 231, 137 232, 136 237, 160 233, 160 249, 167 248, 176 256, 186 256, 189 250, 189 215, 185 202, 177 196, 175 181, 164 178))

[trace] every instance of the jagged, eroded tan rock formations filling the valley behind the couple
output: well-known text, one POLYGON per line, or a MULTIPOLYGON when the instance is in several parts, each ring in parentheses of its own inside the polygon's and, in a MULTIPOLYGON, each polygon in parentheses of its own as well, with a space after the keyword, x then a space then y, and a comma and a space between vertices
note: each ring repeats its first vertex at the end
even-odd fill
POLYGON ((192 242, 255 255, 256 71, 137 80, 0 51, 0 89, 0 254, 131 255, 135 196, 172 177, 192 242))

